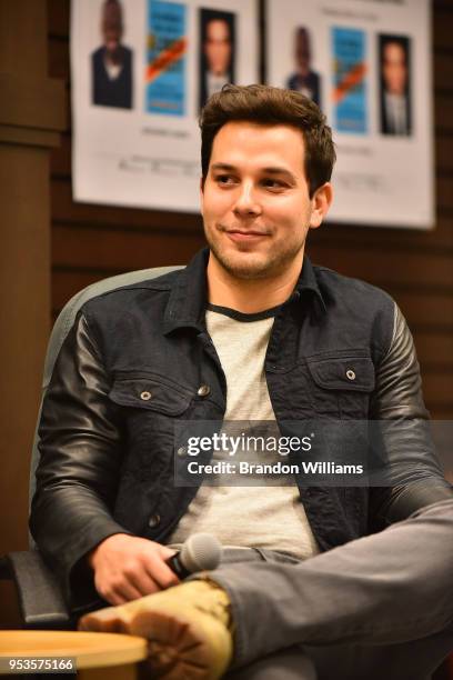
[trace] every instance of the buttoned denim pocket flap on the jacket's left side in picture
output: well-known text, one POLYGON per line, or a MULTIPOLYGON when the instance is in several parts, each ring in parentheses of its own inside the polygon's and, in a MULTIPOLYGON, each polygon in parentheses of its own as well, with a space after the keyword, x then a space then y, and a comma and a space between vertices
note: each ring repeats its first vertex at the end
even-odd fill
POLYGON ((165 416, 183 413, 192 399, 188 391, 154 377, 118 378, 109 392, 120 406, 158 411, 165 416))

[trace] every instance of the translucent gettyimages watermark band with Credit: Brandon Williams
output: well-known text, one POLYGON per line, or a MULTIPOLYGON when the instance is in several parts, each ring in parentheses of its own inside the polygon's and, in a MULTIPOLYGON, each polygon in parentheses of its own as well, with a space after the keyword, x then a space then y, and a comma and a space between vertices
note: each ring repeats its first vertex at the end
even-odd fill
POLYGON ((439 474, 430 424, 423 420, 175 423, 179 487, 393 487, 439 474))

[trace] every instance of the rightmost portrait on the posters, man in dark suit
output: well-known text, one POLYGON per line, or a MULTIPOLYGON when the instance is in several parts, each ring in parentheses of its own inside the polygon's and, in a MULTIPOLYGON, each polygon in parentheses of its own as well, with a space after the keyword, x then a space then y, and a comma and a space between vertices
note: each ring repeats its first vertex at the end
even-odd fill
POLYGON ((410 136, 410 39, 379 36, 381 133, 410 136))

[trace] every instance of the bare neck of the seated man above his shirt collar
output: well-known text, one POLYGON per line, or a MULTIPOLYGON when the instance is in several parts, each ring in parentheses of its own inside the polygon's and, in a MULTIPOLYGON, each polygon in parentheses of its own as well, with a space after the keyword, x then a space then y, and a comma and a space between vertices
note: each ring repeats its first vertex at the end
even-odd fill
POLYGON ((210 253, 207 277, 211 304, 255 313, 288 300, 301 273, 303 253, 283 273, 268 279, 239 279, 229 273, 210 253))

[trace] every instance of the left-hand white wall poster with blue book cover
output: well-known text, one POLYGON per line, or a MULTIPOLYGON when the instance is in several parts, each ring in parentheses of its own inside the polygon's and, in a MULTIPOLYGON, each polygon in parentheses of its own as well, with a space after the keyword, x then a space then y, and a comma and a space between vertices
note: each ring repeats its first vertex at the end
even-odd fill
POLYGON ((71 3, 76 201, 199 210, 208 97, 258 81, 255 0, 71 3))

